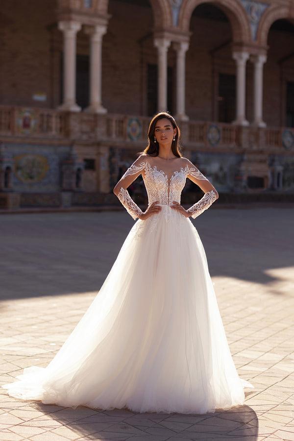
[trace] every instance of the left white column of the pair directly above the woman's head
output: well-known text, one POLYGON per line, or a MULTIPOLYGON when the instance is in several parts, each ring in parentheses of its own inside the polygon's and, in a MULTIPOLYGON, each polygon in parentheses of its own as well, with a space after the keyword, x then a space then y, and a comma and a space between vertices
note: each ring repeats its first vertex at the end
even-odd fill
POLYGON ((154 46, 158 50, 158 112, 166 112, 168 107, 168 49, 171 41, 156 38, 154 46))

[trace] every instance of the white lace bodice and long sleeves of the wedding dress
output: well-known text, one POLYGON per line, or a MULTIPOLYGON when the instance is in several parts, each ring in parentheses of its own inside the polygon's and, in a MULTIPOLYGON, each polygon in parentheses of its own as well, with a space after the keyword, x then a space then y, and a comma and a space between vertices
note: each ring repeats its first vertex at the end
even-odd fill
MULTIPOLYGON (((151 160, 147 157, 140 157, 132 166, 124 173, 121 181, 124 185, 120 188, 118 197, 126 208, 128 213, 136 219, 142 214, 141 209, 135 204, 129 196, 126 187, 134 180, 135 177, 142 173, 145 187, 148 195, 148 206, 157 202, 161 205, 173 205, 174 202, 180 203, 181 193, 185 186, 187 176, 196 180, 207 180, 205 176, 187 159, 183 158, 183 167, 174 170, 169 176, 167 172, 160 170, 156 165, 152 165, 151 160), (131 178, 131 179, 129 179, 131 178)), ((120 181, 120 182, 121 182, 120 181)), ((120 185, 118 183, 118 186, 120 185)), ((204 210, 206 210, 215 200, 217 196, 213 190, 208 191, 196 202, 189 212, 192 217, 196 218, 204 210)))

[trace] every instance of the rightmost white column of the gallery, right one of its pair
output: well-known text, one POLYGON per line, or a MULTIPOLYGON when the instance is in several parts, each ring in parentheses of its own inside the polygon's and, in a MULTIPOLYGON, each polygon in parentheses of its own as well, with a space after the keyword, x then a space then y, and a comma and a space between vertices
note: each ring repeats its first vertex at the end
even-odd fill
POLYGON ((254 119, 253 125, 257 127, 266 127, 263 121, 263 65, 267 61, 266 55, 253 55, 251 60, 254 63, 254 86, 253 86, 253 103, 254 103, 254 119))

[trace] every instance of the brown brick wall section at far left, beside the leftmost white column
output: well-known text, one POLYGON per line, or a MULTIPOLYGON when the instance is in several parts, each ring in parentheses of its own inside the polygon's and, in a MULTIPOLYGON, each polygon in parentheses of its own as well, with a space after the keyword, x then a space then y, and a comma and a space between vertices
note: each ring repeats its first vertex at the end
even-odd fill
POLYGON ((0 5, 0 103, 50 107, 50 32, 53 0, 9 0, 0 5), (38 102, 34 94, 47 100, 38 102))

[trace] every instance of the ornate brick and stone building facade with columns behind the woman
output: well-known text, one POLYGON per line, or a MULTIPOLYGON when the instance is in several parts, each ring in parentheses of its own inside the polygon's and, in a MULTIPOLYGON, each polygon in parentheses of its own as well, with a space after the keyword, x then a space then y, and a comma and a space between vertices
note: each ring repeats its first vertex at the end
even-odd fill
POLYGON ((294 193, 292 0, 4 0, 0 24, 0 206, 112 202, 158 110, 220 192, 294 193))

